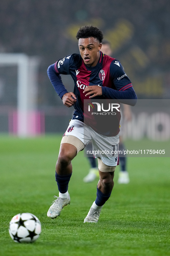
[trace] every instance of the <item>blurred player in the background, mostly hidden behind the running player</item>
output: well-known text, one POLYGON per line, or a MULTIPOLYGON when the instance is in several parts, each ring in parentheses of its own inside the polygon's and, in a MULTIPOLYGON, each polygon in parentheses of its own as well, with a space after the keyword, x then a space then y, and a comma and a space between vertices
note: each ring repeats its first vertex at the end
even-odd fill
MULTIPOLYGON (((108 55, 108 56, 112 56, 112 50, 110 47, 110 43, 107 40, 103 40, 102 41, 102 48, 101 48, 102 53, 108 55)), ((119 132, 119 150, 123 151, 125 150, 125 146, 123 143, 123 120, 124 121, 131 121, 132 118, 132 113, 131 113, 131 108, 129 105, 123 104, 123 115, 121 113, 121 121, 120 121, 120 132, 119 132)), ((87 146, 87 150, 92 150, 92 144, 89 143, 87 146)), ((96 159, 91 156, 91 157, 87 157, 87 159, 89 160, 89 164, 90 164, 90 170, 89 173, 87 174, 87 176, 85 176, 83 178, 84 182, 92 182, 94 181, 96 178, 99 177, 99 171, 98 171, 98 166, 97 166, 97 162, 96 159)), ((119 178, 118 178, 118 183, 119 184, 127 184, 129 183, 129 173, 127 172, 127 157, 126 156, 119 156, 119 165, 120 165, 120 172, 119 172, 119 178)))

